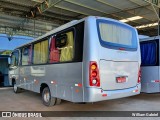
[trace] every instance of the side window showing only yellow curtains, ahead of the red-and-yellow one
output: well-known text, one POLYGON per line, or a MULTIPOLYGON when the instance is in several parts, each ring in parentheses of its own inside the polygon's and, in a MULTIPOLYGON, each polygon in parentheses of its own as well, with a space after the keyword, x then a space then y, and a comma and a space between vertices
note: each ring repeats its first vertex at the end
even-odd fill
POLYGON ((33 64, 44 64, 48 61, 48 40, 33 45, 33 64))

